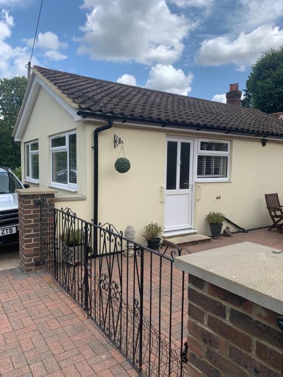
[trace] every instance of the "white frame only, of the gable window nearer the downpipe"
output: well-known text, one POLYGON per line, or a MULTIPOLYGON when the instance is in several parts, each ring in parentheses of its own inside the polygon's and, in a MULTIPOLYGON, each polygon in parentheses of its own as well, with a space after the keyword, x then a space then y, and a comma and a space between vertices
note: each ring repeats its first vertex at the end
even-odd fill
MULTIPOLYGON (((72 191, 77 191, 78 188, 78 175, 77 175, 77 183, 71 183, 70 182, 70 172, 69 172, 69 155, 70 155, 70 150, 69 150, 69 136, 70 135, 77 135, 76 131, 69 131, 69 132, 64 132, 62 134, 57 134, 57 135, 52 135, 50 136, 50 153, 51 153, 51 186, 53 187, 58 187, 62 189, 67 189, 70 188, 72 191), (52 147, 52 140, 57 139, 58 137, 63 137, 65 136, 65 145, 62 145, 60 147, 52 147), (57 152, 67 152, 67 183, 58 183, 53 181, 53 154, 57 152)), ((76 158, 77 158, 77 137, 76 137, 76 158)), ((78 168, 77 168, 78 171, 78 168)))

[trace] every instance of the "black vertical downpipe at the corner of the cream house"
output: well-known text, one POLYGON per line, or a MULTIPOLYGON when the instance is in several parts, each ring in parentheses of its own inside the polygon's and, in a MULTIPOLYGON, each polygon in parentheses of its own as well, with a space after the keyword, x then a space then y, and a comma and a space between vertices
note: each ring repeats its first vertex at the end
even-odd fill
MULTIPOLYGON (((80 114, 78 114, 80 115, 80 114)), ((113 119, 108 119, 106 126, 98 127, 93 133, 94 167, 93 167, 93 223, 98 225, 98 133, 113 127, 113 119)), ((94 251, 97 251, 97 229, 94 231, 94 251)))

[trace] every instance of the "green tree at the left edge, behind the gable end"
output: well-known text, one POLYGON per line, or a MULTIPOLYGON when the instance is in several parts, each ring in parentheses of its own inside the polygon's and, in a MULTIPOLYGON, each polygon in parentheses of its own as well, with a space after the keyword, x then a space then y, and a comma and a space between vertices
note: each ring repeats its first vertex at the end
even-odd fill
POLYGON ((21 165, 21 146, 14 141, 12 132, 26 88, 24 76, 0 79, 0 165, 10 168, 21 165))

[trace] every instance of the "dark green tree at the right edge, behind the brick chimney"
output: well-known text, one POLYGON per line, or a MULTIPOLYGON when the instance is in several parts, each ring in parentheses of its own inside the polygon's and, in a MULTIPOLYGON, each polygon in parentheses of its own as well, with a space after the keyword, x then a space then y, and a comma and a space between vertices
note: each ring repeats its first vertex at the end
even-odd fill
POLYGON ((252 65, 242 106, 271 113, 283 111, 283 46, 270 49, 252 65))

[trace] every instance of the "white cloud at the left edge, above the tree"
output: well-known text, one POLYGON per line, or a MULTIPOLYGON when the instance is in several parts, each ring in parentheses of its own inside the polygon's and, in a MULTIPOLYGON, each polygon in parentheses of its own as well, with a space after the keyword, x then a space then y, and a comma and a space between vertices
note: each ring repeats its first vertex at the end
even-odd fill
MULTIPOLYGON (((12 47, 6 41, 12 34, 14 19, 9 12, 0 12, 0 77, 11 78, 13 76, 27 75, 25 65, 29 60, 30 52, 26 47, 12 47)), ((32 62, 38 64, 34 57, 32 62)))

